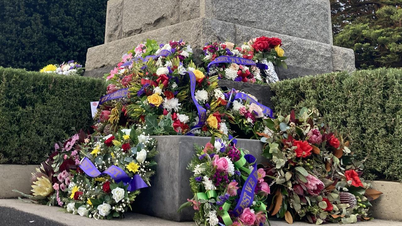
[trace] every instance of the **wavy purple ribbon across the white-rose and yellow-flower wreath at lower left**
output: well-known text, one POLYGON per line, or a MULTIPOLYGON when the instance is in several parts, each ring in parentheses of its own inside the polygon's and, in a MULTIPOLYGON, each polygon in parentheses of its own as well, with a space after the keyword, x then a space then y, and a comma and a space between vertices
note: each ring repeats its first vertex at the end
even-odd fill
POLYGON ((86 175, 90 177, 99 177, 102 174, 109 175, 116 183, 123 181, 124 185, 128 185, 127 191, 135 191, 140 188, 148 187, 145 181, 138 175, 134 175, 131 179, 120 167, 110 166, 105 171, 100 173, 100 171, 95 167, 95 165, 89 160, 89 158, 84 157, 80 162, 80 168, 86 175))

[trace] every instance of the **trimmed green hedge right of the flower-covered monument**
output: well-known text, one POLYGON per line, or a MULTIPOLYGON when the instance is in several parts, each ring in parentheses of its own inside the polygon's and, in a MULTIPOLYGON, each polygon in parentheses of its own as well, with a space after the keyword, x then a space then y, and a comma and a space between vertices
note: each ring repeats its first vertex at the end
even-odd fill
POLYGON ((366 178, 402 181, 402 70, 379 68, 306 76, 271 85, 276 112, 316 107, 351 141, 366 178))

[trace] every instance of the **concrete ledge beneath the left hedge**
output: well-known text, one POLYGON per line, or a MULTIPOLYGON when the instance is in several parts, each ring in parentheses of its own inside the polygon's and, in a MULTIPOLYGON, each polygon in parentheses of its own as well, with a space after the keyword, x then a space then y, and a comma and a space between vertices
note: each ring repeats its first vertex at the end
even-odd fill
POLYGON ((0 199, 18 197, 12 189, 29 194, 31 192, 31 172, 37 165, 0 165, 0 199))

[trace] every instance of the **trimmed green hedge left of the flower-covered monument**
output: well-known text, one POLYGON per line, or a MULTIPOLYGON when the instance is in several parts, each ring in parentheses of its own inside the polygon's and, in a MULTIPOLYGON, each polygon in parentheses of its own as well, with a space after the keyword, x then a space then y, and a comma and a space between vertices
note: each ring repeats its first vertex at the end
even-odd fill
POLYGON ((37 164, 54 143, 92 125, 103 80, 0 67, 0 163, 37 164))

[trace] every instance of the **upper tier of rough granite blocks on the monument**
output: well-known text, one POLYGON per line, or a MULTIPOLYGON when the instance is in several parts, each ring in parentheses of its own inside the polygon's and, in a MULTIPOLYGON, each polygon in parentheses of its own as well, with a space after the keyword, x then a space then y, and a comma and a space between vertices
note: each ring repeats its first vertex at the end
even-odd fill
MULTIPOLYGON (((114 2, 115 0, 113 0, 114 2)), ((195 18, 206 17, 266 31, 332 44, 328 0, 120 0, 108 4, 105 43, 195 18), (123 19, 121 19, 121 17, 123 19), (308 23, 306 19, 308 18, 308 23), (114 31, 123 28, 122 36, 114 31)))

